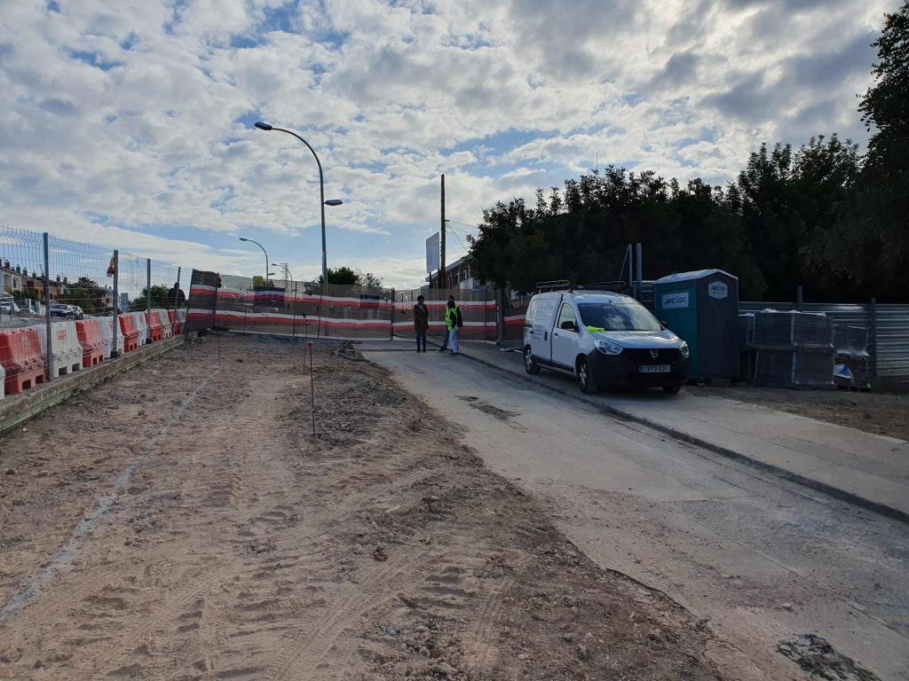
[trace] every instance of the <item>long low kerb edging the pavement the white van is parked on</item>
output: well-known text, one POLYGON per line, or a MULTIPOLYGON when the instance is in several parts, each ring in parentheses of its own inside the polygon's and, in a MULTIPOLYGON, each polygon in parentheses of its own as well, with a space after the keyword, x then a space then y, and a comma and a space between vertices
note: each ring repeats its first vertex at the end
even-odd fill
POLYGON ((569 392, 568 390, 562 390, 561 388, 558 388, 556 386, 548 385, 547 383, 544 383, 539 380, 534 380, 528 376, 523 376, 514 371, 503 369, 502 367, 494 364, 491 361, 484 360, 481 357, 475 357, 474 355, 469 354, 469 349, 467 349, 467 350, 468 350, 468 352, 461 352, 460 354, 462 356, 468 358, 469 360, 474 360, 475 362, 483 364, 484 366, 490 367, 494 370, 506 373, 509 376, 512 376, 516 379, 524 380, 528 383, 533 383, 534 385, 542 386, 543 388, 545 388, 547 390, 552 390, 553 392, 556 392, 560 395, 564 395, 565 397, 569 397, 572 400, 584 402, 584 404, 589 404, 592 407, 596 407, 598 410, 604 411, 605 413, 611 414, 613 416, 617 416, 620 419, 634 421, 635 423, 640 423, 640 424, 646 426, 647 428, 658 430, 673 439, 677 439, 681 442, 687 442, 688 444, 692 444, 696 447, 700 447, 701 449, 707 449, 708 451, 712 451, 712 452, 714 452, 714 454, 719 454, 720 456, 723 456, 726 459, 734 459, 735 461, 744 463, 748 466, 751 466, 754 469, 759 469, 759 470, 763 470, 764 472, 773 473, 774 475, 776 475, 780 478, 797 483, 806 488, 814 489, 819 492, 823 492, 824 494, 826 494, 830 497, 837 498, 842 501, 846 501, 850 504, 853 504, 854 506, 858 506, 860 508, 865 508, 867 510, 874 511, 875 513, 880 513, 882 516, 886 516, 888 518, 894 518, 895 520, 899 520, 900 522, 909 524, 909 513, 906 513, 904 510, 902 510, 900 508, 893 508, 892 506, 887 506, 886 504, 882 504, 878 501, 874 501, 874 499, 865 498, 858 494, 855 494, 854 492, 850 492, 847 489, 835 488, 824 482, 820 482, 819 480, 807 478, 804 475, 800 475, 799 473, 794 473, 791 470, 781 468, 772 463, 766 463, 765 461, 762 461, 760 459, 754 459, 754 457, 748 456, 747 454, 744 454, 740 451, 735 451, 734 449, 722 447, 720 445, 715 444, 714 442, 710 442, 709 440, 698 438, 694 435, 690 435, 688 433, 685 433, 682 430, 674 429, 670 426, 665 426, 662 423, 659 423, 659 422, 651 420, 651 419, 646 419, 646 418, 644 418, 638 414, 634 414, 630 411, 625 411, 625 410, 619 409, 617 407, 613 407, 608 404, 601 404, 599 402, 596 402, 594 400, 590 400, 590 399, 584 397, 583 393, 575 393, 574 391, 569 392))

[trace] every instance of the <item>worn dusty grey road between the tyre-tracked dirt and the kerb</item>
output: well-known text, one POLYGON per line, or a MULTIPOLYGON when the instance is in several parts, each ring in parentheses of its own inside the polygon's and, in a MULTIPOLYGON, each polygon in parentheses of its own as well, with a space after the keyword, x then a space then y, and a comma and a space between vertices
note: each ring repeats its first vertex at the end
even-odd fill
POLYGON ((777 646, 808 634, 881 679, 909 678, 904 524, 465 357, 365 354, 543 499, 589 557, 704 617, 730 678, 807 677, 777 646))

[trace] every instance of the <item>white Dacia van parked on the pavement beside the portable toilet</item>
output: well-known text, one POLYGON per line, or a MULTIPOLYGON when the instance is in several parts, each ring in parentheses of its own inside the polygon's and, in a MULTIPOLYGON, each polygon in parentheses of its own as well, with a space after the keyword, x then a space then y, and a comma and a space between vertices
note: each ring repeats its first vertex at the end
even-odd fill
POLYGON ((688 344, 644 305, 611 291, 548 291, 530 301, 524 320, 524 370, 569 373, 584 392, 631 385, 681 390, 688 344))

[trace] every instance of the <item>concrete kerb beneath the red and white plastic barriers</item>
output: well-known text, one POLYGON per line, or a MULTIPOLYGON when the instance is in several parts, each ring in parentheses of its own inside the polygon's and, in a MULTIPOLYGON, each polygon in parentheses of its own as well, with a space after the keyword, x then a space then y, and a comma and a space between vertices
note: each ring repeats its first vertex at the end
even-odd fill
POLYGON ((103 361, 92 369, 76 371, 65 378, 42 383, 33 390, 5 397, 4 400, 0 400, 0 436, 80 392, 91 390, 125 370, 173 350, 184 341, 185 337, 182 335, 155 341, 133 352, 127 352, 115 360, 103 361))

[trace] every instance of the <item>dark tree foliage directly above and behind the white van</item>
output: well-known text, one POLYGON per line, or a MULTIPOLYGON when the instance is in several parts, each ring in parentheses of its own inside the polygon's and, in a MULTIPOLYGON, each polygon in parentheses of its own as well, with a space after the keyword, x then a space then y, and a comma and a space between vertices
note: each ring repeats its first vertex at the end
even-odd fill
POLYGON ((739 276, 744 292, 764 291, 722 192, 614 167, 567 180, 548 197, 537 191, 534 208, 521 199, 496 203, 471 239, 471 257, 482 280, 533 291, 542 280, 616 279, 629 242, 644 243, 645 271, 722 266, 739 276))

